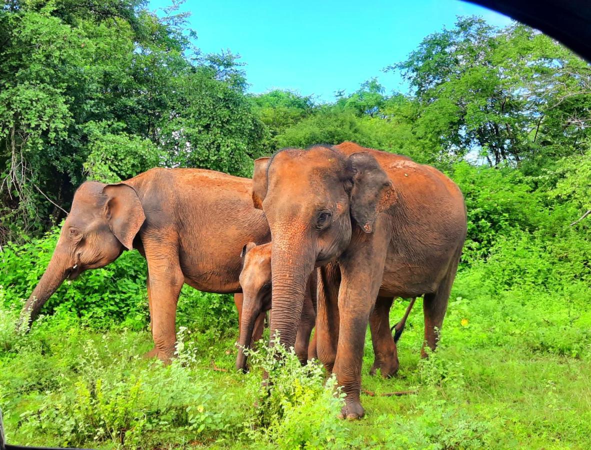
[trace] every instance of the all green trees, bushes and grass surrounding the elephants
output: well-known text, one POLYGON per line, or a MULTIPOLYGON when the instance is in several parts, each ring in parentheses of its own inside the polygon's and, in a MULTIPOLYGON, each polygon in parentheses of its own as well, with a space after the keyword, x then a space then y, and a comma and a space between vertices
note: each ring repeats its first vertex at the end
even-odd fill
MULTIPOLYGON (((94 448, 589 448, 591 66, 524 25, 460 18, 400 70, 409 93, 368 80, 318 104, 246 93, 230 54, 203 55, 174 5, 8 0, 0 9, 0 407, 9 441, 94 448), (26 336, 14 323, 85 179, 161 165, 249 176, 284 146, 356 141, 448 173, 469 235, 441 349, 420 360, 421 305, 401 370, 369 377, 359 422, 314 364, 259 349, 235 373, 228 296, 185 287, 179 357, 151 345, 145 263, 64 283, 26 336), (271 389, 269 395, 262 389, 271 389), (401 396, 381 396, 411 391, 401 396), (374 394, 374 396, 370 394, 374 394)), ((369 44, 369 43, 368 43, 369 44)), ((335 86, 338 88, 339 86, 335 86)), ((398 300, 392 323, 401 316, 398 300)))

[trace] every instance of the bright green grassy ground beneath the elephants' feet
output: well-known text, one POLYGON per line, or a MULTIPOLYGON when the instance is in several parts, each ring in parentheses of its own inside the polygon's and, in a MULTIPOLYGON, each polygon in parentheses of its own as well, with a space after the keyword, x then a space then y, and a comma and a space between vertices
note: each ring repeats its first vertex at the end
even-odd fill
MULTIPOLYGON (((428 361, 419 358, 417 301, 399 342, 397 377, 368 374, 368 335, 362 385, 375 396, 363 394, 366 418, 326 419, 330 426, 319 425, 323 432, 311 447, 590 448, 589 313, 569 319, 564 305, 553 311, 548 299, 526 313, 521 296, 512 299, 509 292, 504 299, 484 293, 466 299, 461 294, 474 281, 459 277, 443 345, 428 361), (561 344, 565 335, 580 341, 561 344), (394 391, 415 393, 381 396, 394 391)), ((405 306, 398 300, 392 323, 405 306)), ((256 426, 254 416, 269 413, 258 403, 260 371, 235 373, 232 335, 184 332, 184 346, 194 350, 164 368, 137 357, 151 347, 147 331, 99 332, 61 317, 36 324, 23 339, 12 334, 14 312, 2 314, 0 405, 10 442, 105 449, 287 446, 256 426)), ((304 417, 306 407, 318 406, 304 405, 304 417)), ((282 423, 281 429, 300 425, 282 423)))

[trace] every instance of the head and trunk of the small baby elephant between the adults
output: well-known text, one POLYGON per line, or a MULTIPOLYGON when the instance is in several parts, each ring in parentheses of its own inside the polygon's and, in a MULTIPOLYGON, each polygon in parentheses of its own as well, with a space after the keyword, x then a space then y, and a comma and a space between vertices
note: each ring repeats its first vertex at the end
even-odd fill
POLYGON ((246 354, 256 319, 261 312, 271 309, 271 244, 256 245, 248 242, 242 249, 242 272, 240 285, 244 296, 240 339, 236 368, 246 371, 246 354))

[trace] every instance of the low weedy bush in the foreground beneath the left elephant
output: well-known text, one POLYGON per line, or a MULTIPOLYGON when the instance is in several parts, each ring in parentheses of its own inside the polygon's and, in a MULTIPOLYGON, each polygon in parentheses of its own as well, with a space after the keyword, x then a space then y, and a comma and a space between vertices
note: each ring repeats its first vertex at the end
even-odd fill
POLYGON ((71 390, 47 392, 37 407, 22 413, 22 433, 34 438, 43 432, 61 445, 108 441, 137 448, 161 442, 159 435, 173 429, 193 439, 230 432, 236 413, 219 406, 230 405, 232 396, 214 396, 212 378, 190 370, 196 356, 183 345, 182 332, 177 354, 167 367, 144 365, 128 375, 141 363, 137 357, 116 354, 105 340, 83 342, 71 390))

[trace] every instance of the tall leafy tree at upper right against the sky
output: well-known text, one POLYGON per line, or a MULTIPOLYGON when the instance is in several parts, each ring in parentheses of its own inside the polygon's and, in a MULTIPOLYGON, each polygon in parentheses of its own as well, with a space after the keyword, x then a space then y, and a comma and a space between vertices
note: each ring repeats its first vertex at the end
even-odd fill
POLYGON ((447 154, 519 164, 564 156, 589 133, 589 65, 525 25, 460 18, 394 69, 420 104, 417 133, 447 154))

